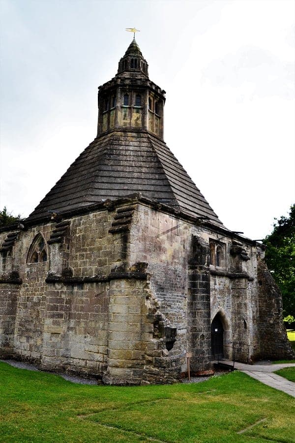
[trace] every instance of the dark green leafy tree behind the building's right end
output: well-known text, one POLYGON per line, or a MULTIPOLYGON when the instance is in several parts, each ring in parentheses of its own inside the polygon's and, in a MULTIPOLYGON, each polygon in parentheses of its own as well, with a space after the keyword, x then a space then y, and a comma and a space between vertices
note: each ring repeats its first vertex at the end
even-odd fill
POLYGON ((284 316, 295 316, 295 204, 289 217, 275 219, 264 244, 267 267, 282 292, 284 316))

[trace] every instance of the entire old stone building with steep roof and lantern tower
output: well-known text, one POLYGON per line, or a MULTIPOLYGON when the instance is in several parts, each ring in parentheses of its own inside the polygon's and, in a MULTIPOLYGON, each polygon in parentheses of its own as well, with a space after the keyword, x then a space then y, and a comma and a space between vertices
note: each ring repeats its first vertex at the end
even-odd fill
POLYGON ((99 87, 97 137, 0 229, 0 356, 105 383, 173 382, 291 355, 262 245, 227 229, 163 140, 135 41, 99 87), (235 350, 234 350, 235 349, 235 350))

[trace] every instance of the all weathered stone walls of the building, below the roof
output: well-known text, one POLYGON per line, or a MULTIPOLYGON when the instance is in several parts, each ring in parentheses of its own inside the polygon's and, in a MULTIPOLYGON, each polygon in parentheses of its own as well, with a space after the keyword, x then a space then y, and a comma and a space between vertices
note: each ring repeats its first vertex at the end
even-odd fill
POLYGON ((186 352, 192 374, 211 370, 216 315, 225 356, 233 343, 241 361, 248 350, 291 355, 280 294, 252 242, 137 198, 8 234, 0 233, 2 357, 105 383, 174 382, 187 372, 186 352), (37 236, 47 260, 30 262, 37 236))

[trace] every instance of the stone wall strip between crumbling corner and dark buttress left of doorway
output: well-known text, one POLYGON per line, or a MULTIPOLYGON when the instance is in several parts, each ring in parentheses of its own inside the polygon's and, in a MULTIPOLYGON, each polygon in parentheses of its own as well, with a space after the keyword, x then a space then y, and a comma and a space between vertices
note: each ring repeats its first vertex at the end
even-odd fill
POLYGON ((138 205, 130 232, 130 262, 148 263, 153 297, 151 304, 148 300, 153 326, 153 341, 148 348, 148 357, 153 358, 155 367, 160 366, 178 375, 187 370, 187 248, 190 242, 188 223, 138 205), (171 337, 175 329, 177 336, 171 337), (173 347, 168 349, 166 342, 170 342, 167 347, 173 347))

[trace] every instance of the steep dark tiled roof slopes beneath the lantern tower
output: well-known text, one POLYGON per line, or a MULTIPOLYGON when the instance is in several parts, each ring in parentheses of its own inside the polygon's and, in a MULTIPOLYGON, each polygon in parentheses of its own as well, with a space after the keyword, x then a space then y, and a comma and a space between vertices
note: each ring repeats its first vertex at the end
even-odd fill
POLYGON ((121 131, 90 143, 27 220, 134 192, 222 225, 164 142, 147 132, 121 131))

